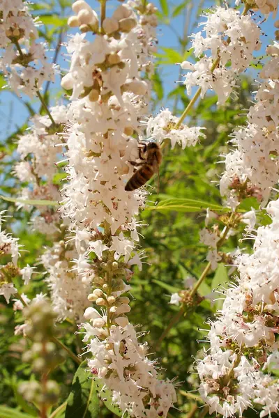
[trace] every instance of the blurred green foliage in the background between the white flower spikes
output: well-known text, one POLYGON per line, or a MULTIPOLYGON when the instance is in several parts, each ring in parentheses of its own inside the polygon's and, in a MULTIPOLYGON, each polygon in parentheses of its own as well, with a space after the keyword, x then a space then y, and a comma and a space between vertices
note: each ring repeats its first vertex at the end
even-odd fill
MULTIPOLYGON (((164 25, 167 25, 173 26, 176 31, 177 19, 180 19, 179 22, 182 19, 184 23, 181 25, 181 33, 176 33, 176 49, 164 47, 164 45, 159 47, 156 72, 153 77, 153 111, 158 111, 160 106, 167 105, 178 116, 189 102, 183 86, 172 84, 174 88, 169 88, 169 71, 173 71, 174 64, 177 62, 185 59, 193 60, 191 51, 188 51, 189 35, 197 25, 197 16, 204 8, 204 3, 204 1, 186 0, 178 3, 160 0, 158 17, 163 30, 164 25)), ((216 3, 220 2, 216 1, 216 3)), ((40 29, 40 36, 51 47, 55 46, 57 41, 66 39, 66 17, 64 16, 70 13, 69 6, 70 3, 67 0, 59 0, 59 3, 36 2, 34 5, 34 14, 40 15, 44 23, 40 29)), ((174 75, 173 81, 176 77, 179 78, 178 72, 174 75)), ((131 280, 134 300, 131 303, 129 318, 131 323, 141 324, 141 330, 148 332, 145 339, 151 347, 151 357, 160 358, 165 369, 162 376, 177 378, 177 381, 181 382, 178 389, 177 407, 179 410, 172 410, 169 417, 186 417, 192 412, 194 416, 199 413, 195 410, 195 404, 202 405, 202 403, 199 402, 198 394, 195 392, 198 382, 193 362, 199 358, 199 350, 202 350, 204 344, 198 343, 197 340, 204 339, 203 329, 208 327, 205 321, 212 317, 217 309, 220 309, 222 303, 220 300, 211 303, 209 299, 205 299, 197 309, 188 312, 176 326, 171 328, 161 346, 157 347, 155 354, 154 348, 160 335, 179 311, 178 307, 169 304, 170 294, 182 289, 183 280, 189 276, 197 279, 206 265, 206 247, 199 243, 199 231, 204 227, 205 211, 199 208, 193 209, 186 201, 179 199, 202 201, 204 208, 211 204, 222 204, 217 183, 223 165, 216 164, 216 162, 221 160, 220 154, 227 153, 227 141, 234 127, 245 123, 245 117, 239 114, 243 113, 242 109, 250 106, 250 85, 249 77, 241 77, 238 88, 239 98, 229 100, 220 108, 216 107, 216 97, 213 95, 208 94, 204 100, 199 101, 187 122, 190 125, 199 124, 206 127, 206 140, 195 148, 185 150, 176 147, 171 151, 167 144, 163 150, 163 164, 160 169, 160 194, 157 196, 154 189, 150 196, 151 201, 174 199, 174 207, 166 209, 162 208, 160 203, 158 206, 150 203, 150 208, 146 208, 140 215, 143 224, 141 233, 144 235, 141 245, 146 251, 146 263, 142 272, 135 270, 131 280)), ((48 86, 45 90, 45 98, 49 103, 60 100, 64 94, 65 92, 61 91, 58 86, 54 88, 48 86)), ((23 100, 22 105, 27 107, 29 117, 36 111, 43 114, 43 109, 38 107, 37 102, 29 103, 23 100)), ((12 167, 17 160, 15 154, 17 134, 24 132, 29 122, 28 119, 22 126, 17 127, 1 145, 1 150, 5 153, 1 161, 0 193, 3 196, 15 196, 18 189, 22 187, 13 177, 12 167)), ((154 186, 156 187, 156 184, 154 186)), ((44 235, 31 231, 29 219, 33 210, 31 212, 18 211, 14 203, 3 200, 0 203, 1 210, 8 209, 11 215, 7 223, 8 231, 15 233, 20 238, 20 244, 24 245, 24 249, 27 250, 22 252, 20 266, 23 267, 27 263, 36 264, 44 251, 44 246, 51 245, 51 242, 48 242, 44 235)), ((251 206, 257 207, 257 204, 252 199, 248 199, 242 206, 250 210, 251 206)), ((222 229, 222 222, 218 222, 222 229)), ((240 227, 239 231, 226 242, 224 251, 232 251, 239 245, 242 232, 243 227, 240 227)), ((246 250, 249 251, 251 242, 246 241, 245 245, 246 250)), ((221 264, 216 272, 211 272, 199 289, 199 294, 209 295, 218 285, 225 284, 229 280, 227 270, 228 268, 221 264)), ((27 295, 47 293, 42 267, 37 265, 36 271, 38 274, 33 276, 31 283, 22 288, 27 295)), ((22 380, 29 380, 31 373, 29 364, 22 363, 21 359, 22 351, 28 343, 14 335, 15 325, 21 323, 20 313, 14 314, 12 304, 6 307, 3 297, 0 300, 0 307, 0 404, 36 416, 33 406, 24 401, 17 391, 19 383, 22 380)), ((75 353, 82 353, 81 336, 74 334, 75 325, 65 322, 58 327, 63 342, 75 353)), ((76 368, 76 364, 68 358, 52 375, 52 378, 61 385, 60 403, 68 396, 76 368)), ((255 415, 255 412, 251 412, 251 415, 255 415)), ((0 417, 5 416, 5 411, 0 410, 0 417)), ((112 417, 113 414, 106 408, 101 408, 99 416, 112 417)))

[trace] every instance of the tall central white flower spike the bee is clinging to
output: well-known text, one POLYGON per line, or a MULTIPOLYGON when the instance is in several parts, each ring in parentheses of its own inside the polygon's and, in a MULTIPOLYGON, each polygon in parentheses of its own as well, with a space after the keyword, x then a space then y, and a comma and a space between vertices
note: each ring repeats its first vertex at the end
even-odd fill
POLYGON ((75 234, 73 271, 91 288, 88 300, 100 308, 84 313, 89 367, 123 413, 167 417, 176 401, 174 385, 158 378, 146 344, 137 342, 126 316, 130 266, 142 267, 135 215, 146 192, 127 192, 125 185, 134 171, 130 162, 139 157, 141 120, 148 111, 156 8, 123 3, 102 22, 83 0, 73 3, 73 11, 69 24, 84 33, 68 42, 70 71, 61 82, 72 91, 61 215, 75 234), (93 40, 86 40, 86 31, 95 32, 93 40))

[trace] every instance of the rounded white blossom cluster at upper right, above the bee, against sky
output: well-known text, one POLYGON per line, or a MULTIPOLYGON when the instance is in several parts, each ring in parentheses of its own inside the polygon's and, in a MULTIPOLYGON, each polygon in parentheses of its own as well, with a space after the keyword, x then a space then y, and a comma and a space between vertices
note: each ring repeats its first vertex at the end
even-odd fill
POLYGON ((252 53, 260 48, 260 29, 250 15, 240 15, 234 8, 216 7, 206 13, 203 31, 195 33, 192 41, 195 56, 193 64, 183 61, 181 68, 188 70, 184 84, 190 95, 192 87, 218 95, 223 104, 236 84, 236 76, 248 68, 252 53))

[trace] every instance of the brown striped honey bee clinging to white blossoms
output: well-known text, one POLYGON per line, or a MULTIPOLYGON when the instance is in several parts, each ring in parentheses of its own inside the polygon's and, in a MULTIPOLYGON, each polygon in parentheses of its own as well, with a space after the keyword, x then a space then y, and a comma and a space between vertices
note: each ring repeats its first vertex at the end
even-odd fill
POLYGON ((156 142, 149 142, 149 144, 144 144, 143 148, 139 148, 139 158, 143 162, 130 161, 130 164, 133 164, 135 167, 140 167, 133 176, 128 180, 128 183, 125 186, 127 192, 132 192, 135 189, 145 185, 146 181, 155 173, 159 173, 159 166, 162 162, 162 153, 160 146, 156 142), (142 157, 142 153, 145 154, 142 157))

